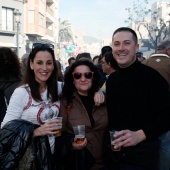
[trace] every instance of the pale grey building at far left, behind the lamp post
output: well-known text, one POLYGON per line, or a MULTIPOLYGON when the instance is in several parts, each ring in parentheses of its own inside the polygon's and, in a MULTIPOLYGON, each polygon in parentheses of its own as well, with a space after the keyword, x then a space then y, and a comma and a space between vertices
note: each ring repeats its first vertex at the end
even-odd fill
POLYGON ((24 1, 5 0, 0 1, 0 46, 11 47, 17 50, 17 38, 20 41, 19 49, 23 49, 24 39, 24 1), (15 12, 20 14, 20 18, 15 12), (18 24, 18 25, 17 25, 18 24), (18 26, 18 27, 17 27, 18 26), (20 34, 17 34, 19 28, 20 34), (18 37, 17 37, 18 35, 18 37))

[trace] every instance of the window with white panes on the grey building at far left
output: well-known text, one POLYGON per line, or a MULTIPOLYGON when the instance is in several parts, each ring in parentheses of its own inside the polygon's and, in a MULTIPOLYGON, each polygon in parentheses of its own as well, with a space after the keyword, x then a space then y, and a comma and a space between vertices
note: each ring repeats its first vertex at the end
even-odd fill
POLYGON ((14 10, 2 7, 2 30, 14 30, 14 10))

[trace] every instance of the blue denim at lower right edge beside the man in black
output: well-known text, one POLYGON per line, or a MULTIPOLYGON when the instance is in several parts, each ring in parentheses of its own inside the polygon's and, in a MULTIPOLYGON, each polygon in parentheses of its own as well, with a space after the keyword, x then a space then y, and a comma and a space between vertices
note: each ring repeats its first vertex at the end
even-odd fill
POLYGON ((159 170, 170 170, 170 131, 160 137, 159 170))

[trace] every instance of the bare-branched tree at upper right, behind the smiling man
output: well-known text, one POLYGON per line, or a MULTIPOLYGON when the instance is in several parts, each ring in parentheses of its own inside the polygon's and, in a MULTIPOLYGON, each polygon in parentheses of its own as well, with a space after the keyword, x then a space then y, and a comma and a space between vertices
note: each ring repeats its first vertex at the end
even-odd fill
MULTIPOLYGON (((144 42, 141 32, 141 27, 144 27, 148 33, 151 48, 156 49, 158 40, 165 39, 170 34, 170 25, 160 17, 161 6, 158 5, 155 11, 151 11, 148 8, 148 2, 148 0, 136 0, 131 8, 126 8, 128 19, 125 20, 125 23, 135 24, 135 30, 138 31, 141 42, 144 42), (147 21, 148 17, 152 22, 147 21)), ((170 2, 166 2, 166 6, 169 8, 170 2)))

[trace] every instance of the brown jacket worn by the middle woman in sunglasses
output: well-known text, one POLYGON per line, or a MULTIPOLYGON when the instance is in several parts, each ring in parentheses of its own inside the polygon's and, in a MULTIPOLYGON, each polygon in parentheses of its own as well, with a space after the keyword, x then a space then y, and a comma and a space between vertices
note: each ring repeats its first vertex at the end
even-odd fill
POLYGON ((95 120, 95 125, 92 127, 88 113, 77 92, 75 92, 71 109, 66 111, 66 108, 61 101, 59 115, 63 117, 63 128, 67 129, 68 132, 73 133, 72 127, 74 125, 85 125, 85 136, 87 139, 86 147, 96 159, 96 164, 92 169, 97 170, 101 168, 103 138, 108 123, 106 105, 102 104, 98 107, 94 106, 93 118, 95 120))

